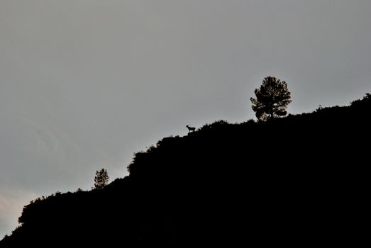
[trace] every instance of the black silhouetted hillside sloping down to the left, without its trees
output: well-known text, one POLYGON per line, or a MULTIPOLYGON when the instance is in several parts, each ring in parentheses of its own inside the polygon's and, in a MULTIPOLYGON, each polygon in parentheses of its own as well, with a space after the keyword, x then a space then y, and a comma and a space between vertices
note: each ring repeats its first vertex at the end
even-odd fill
POLYGON ((370 220, 370 114, 367 94, 164 138, 130 176, 26 205, 0 247, 355 246, 370 220))

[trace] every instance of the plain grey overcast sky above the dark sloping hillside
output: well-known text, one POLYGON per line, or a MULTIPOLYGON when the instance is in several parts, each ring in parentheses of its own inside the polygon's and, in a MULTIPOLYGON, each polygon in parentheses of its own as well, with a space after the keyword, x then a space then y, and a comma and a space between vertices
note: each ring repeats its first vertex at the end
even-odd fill
POLYGON ((133 153, 255 118, 262 79, 289 113, 371 92, 369 0, 0 0, 0 239, 23 205, 128 175, 133 153))

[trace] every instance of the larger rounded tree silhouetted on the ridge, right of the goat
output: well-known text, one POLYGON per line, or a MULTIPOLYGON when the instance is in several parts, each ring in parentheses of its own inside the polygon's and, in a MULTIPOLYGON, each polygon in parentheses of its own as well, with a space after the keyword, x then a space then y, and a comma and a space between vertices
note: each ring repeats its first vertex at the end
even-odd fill
POLYGON ((286 108, 291 103, 287 83, 275 77, 265 77, 262 85, 254 91, 256 98, 250 98, 258 120, 268 120, 287 115, 286 108))

